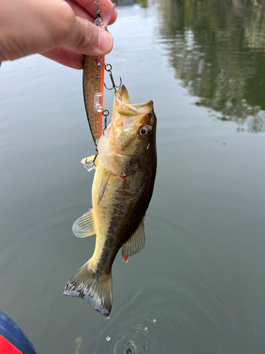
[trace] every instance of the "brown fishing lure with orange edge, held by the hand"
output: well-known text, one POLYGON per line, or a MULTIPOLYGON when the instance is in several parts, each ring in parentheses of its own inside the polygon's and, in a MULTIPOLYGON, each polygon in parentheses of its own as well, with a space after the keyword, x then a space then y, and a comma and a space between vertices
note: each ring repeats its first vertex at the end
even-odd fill
MULTIPOLYGON (((96 3, 95 3, 96 4, 96 3)), ((99 5, 99 4, 96 4, 99 5)), ((93 22, 98 27, 107 30, 115 11, 115 4, 102 21, 99 8, 96 11, 96 18, 93 22)), ((102 114, 103 114, 103 90, 104 90, 105 55, 92 56, 85 55, 83 63, 83 97, 88 117, 88 124, 95 145, 102 134, 102 114)))

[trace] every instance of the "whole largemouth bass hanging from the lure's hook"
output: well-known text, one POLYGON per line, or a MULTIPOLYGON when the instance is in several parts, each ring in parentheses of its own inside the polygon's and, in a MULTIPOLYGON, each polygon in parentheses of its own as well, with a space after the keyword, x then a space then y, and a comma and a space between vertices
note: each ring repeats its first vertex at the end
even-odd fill
POLYGON ((64 295, 85 299, 105 316, 112 309, 112 263, 117 252, 122 248, 127 261, 145 244, 143 219, 156 172, 155 131, 153 101, 130 104, 122 85, 114 93, 112 122, 99 139, 98 156, 81 161, 88 170, 95 168, 93 209, 76 220, 73 233, 96 234, 96 244, 64 295))

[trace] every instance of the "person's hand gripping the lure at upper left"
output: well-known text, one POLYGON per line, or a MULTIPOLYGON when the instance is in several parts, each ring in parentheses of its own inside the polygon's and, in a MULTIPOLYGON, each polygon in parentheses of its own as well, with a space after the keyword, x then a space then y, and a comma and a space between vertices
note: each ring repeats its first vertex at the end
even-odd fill
MULTIPOLYGON (((103 20, 112 5, 100 0, 103 20)), ((117 11, 109 24, 116 18, 117 11)), ((82 69, 83 55, 105 55, 113 47, 110 33, 94 19, 94 0, 0 0, 0 63, 40 53, 82 69)))

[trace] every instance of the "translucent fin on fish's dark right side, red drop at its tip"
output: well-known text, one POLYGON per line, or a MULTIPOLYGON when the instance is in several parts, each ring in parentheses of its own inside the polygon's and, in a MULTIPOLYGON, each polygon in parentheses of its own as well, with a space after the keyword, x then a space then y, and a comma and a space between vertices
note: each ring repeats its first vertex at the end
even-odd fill
POLYGON ((134 256, 136 253, 141 252, 144 247, 144 244, 146 242, 146 236, 144 235, 143 220, 144 217, 134 234, 132 234, 129 240, 127 240, 122 245, 122 257, 125 257, 124 260, 126 260, 128 257, 134 256))

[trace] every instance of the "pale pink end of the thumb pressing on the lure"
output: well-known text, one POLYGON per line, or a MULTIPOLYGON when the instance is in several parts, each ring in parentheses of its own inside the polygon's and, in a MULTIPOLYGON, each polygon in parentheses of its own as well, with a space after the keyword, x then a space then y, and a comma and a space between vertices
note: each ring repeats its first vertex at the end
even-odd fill
POLYGON ((63 44, 72 52, 86 55, 105 55, 112 50, 113 39, 107 30, 102 30, 90 21, 75 17, 66 42, 63 44))

